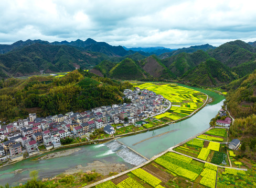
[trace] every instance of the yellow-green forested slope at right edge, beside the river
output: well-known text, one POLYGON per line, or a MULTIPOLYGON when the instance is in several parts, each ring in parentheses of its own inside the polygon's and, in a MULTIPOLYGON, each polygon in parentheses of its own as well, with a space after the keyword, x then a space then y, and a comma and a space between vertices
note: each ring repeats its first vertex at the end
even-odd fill
POLYGON ((254 156, 256 136, 256 70, 243 78, 232 81, 227 87, 227 107, 236 121, 230 127, 230 134, 249 146, 244 152, 254 156))

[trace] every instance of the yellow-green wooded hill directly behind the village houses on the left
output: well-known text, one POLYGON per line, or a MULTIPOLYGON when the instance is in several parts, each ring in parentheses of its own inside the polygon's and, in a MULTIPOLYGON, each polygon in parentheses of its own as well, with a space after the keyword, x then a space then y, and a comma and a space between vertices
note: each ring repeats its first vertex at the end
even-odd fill
POLYGON ((1 80, 0 87, 0 119, 13 120, 28 113, 47 116, 120 103, 123 89, 132 85, 80 69, 60 78, 1 80))

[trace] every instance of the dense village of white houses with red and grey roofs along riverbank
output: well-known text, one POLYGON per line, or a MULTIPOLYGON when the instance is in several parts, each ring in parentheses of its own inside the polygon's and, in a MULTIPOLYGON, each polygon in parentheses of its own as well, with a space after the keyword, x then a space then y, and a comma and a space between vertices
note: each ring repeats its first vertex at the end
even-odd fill
POLYGON ((36 113, 31 113, 27 119, 1 125, 0 160, 16 161, 38 155, 38 147, 44 146, 46 150, 58 148, 61 140, 68 137, 84 137, 90 140, 90 134, 99 129, 112 135, 115 133, 113 124, 121 124, 116 128, 141 126, 141 120, 163 113, 171 105, 163 96, 147 89, 140 90, 138 87, 134 91, 125 89, 124 95, 123 99, 126 98, 131 103, 47 117, 37 117, 36 113))

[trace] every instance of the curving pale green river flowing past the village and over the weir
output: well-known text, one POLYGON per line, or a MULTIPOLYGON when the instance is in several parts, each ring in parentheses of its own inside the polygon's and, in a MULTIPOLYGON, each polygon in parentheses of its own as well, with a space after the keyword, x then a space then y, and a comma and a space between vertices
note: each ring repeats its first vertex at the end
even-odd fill
MULTIPOLYGON (((206 107, 187 120, 159 128, 158 130, 120 138, 120 142, 131 147, 146 158, 151 158, 159 152, 162 152, 167 148, 206 130, 209 127, 210 119, 215 117, 225 98, 211 91, 193 87, 189 88, 206 93, 209 97, 214 99, 214 102, 207 104, 206 107), (169 132, 172 130, 177 131, 169 132), (165 132, 169 133, 153 137, 165 132), (133 144, 146 138, 150 139, 133 146, 133 144)), ((132 164, 134 161, 136 164, 136 162, 142 162, 143 160, 139 157, 135 157, 136 160, 134 160, 134 154, 132 152, 127 150, 127 148, 124 146, 113 143, 113 141, 112 143, 82 146, 80 148, 81 150, 65 157, 40 161, 35 161, 33 158, 29 158, 3 167, 0 169, 0 185, 9 183, 10 185, 14 186, 21 182, 24 183, 29 178, 29 171, 33 170, 37 170, 39 172, 38 175, 41 179, 53 177, 54 175, 60 174, 67 169, 75 168, 79 164, 86 166, 87 163, 91 163, 95 160, 105 163, 124 163, 126 164, 127 168, 132 168, 134 166, 134 164, 132 164), (130 154, 127 154, 126 152, 130 152, 130 154), (22 169, 23 172, 17 174, 10 173, 17 169, 22 169)))

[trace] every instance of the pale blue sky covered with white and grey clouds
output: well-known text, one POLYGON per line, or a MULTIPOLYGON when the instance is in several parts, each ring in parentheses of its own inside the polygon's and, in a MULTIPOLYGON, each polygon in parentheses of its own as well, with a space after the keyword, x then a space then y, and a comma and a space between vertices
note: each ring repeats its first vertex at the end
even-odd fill
POLYGON ((255 7, 253 0, 0 0, 0 44, 92 38, 175 49, 254 42, 255 7))

